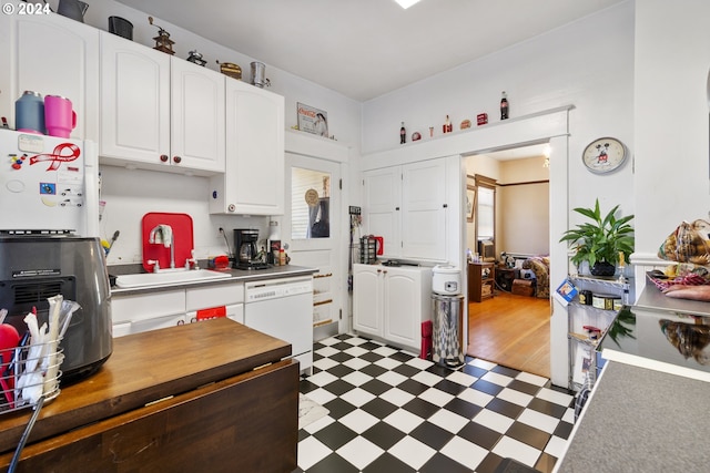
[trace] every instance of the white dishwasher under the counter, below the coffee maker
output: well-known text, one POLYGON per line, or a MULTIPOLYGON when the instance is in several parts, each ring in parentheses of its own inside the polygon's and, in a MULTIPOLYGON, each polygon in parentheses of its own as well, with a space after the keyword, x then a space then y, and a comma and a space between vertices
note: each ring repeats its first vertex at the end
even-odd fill
POLYGON ((244 325, 291 343, 301 371, 313 366, 313 277, 244 284, 244 325))

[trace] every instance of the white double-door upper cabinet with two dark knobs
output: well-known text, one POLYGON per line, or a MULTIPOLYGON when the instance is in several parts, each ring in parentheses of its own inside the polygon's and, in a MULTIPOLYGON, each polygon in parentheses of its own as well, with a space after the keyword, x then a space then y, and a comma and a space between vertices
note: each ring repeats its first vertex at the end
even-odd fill
POLYGON ((102 163, 224 172, 224 79, 102 32, 102 163))

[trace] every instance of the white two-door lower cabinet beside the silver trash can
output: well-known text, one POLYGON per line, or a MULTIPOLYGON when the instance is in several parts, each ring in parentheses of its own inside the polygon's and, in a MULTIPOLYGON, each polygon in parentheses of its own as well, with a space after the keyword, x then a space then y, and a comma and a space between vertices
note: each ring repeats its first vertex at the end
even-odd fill
POLYGON ((432 319, 432 269, 353 266, 353 329, 419 351, 432 319))

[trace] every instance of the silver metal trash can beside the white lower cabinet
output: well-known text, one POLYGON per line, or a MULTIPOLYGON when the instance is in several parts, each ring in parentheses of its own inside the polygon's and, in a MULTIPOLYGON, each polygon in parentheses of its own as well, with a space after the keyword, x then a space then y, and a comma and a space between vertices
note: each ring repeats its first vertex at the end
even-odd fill
POLYGON ((464 364, 464 296, 432 295, 434 333, 432 358, 447 368, 464 364))

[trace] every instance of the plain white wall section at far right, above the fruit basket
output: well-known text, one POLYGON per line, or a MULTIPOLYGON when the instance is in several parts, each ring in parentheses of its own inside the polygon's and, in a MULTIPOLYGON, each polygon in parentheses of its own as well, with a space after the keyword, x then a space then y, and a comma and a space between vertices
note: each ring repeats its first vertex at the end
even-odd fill
POLYGON ((652 259, 681 220, 709 217, 710 2, 636 10, 636 249, 652 259))

